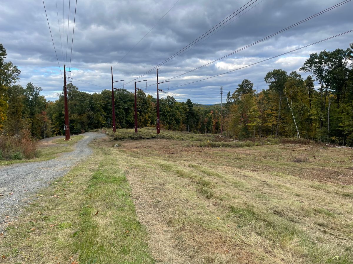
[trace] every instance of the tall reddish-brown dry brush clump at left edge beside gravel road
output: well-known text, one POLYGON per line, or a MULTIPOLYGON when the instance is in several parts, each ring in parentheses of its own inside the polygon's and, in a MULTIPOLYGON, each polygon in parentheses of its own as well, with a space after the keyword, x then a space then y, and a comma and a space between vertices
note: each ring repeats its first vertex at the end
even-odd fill
POLYGON ((35 139, 29 130, 22 130, 14 136, 0 137, 0 159, 34 158, 37 153, 35 139))

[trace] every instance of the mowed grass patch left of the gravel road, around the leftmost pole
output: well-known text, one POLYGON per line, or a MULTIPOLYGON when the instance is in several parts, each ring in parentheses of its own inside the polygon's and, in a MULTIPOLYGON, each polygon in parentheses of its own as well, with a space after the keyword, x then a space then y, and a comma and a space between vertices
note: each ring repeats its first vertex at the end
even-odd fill
POLYGON ((53 139, 50 142, 38 142, 37 143, 37 154, 34 159, 20 159, 20 160, 10 160, 10 161, 0 161, 1 165, 10 165, 15 163, 23 163, 23 162, 37 162, 37 161, 48 161, 49 159, 53 159, 58 157, 59 154, 63 152, 73 151, 73 146, 79 140, 83 139, 84 136, 71 136, 71 140, 65 140, 65 138, 57 138, 53 139))

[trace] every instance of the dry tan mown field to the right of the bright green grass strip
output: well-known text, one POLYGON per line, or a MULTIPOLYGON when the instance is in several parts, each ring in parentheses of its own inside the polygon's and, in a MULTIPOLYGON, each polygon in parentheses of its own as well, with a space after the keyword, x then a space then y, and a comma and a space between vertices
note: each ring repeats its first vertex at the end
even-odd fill
POLYGON ((114 148, 156 260, 353 263, 352 149, 190 145, 114 148))

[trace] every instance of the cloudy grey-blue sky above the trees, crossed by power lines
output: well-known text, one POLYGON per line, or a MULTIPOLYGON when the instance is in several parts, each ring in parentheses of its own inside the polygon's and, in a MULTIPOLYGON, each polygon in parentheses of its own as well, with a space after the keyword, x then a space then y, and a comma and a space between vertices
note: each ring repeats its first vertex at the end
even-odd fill
MULTIPOLYGON (((21 70, 21 85, 32 82, 42 87, 42 95, 47 99, 57 99, 56 94, 62 89, 63 81, 43 2, 1 2, 0 42, 8 53, 6 61, 12 61, 21 70)), ((77 0, 71 58, 74 78, 72 82, 86 92, 100 92, 103 87, 110 89, 110 66, 114 66, 114 80, 124 79, 125 83, 132 81, 192 43, 247 2, 248 0, 77 0), (162 18, 164 14, 166 15, 162 18), (160 22, 149 32, 158 20, 160 22), (145 36, 146 33, 148 34, 145 36), (142 37, 144 38, 141 40, 142 37)), ((227 23, 159 67, 159 81, 209 63, 340 2, 342 1, 252 0, 247 5, 249 7, 245 10, 242 8, 243 11, 227 23)), ((69 0, 46 0, 44 3, 62 68, 63 64, 70 64, 75 0, 71 0, 70 13, 69 0)), ((346 49, 353 42, 353 32, 232 73, 187 83, 244 67, 352 30, 352 10, 353 1, 348 1, 232 56, 173 78, 170 80, 168 95, 175 95, 180 101, 190 98, 197 103, 219 103, 219 87, 223 86, 225 94, 228 91, 233 92, 244 78, 251 80, 255 89, 266 89, 263 79, 268 71, 279 68, 288 73, 298 71, 311 53, 324 49, 346 49)), ((307 76, 305 73, 301 74, 303 77, 307 76)), ((148 85, 154 84, 156 71, 151 71, 137 79, 139 80, 148 80, 148 85)), ((140 86, 143 86, 142 82, 140 86)), ((133 91, 133 82, 126 84, 125 88, 133 91)), ((163 90, 167 88, 168 84, 160 87, 163 90)), ((149 86, 146 92, 154 95, 156 85, 149 86)))

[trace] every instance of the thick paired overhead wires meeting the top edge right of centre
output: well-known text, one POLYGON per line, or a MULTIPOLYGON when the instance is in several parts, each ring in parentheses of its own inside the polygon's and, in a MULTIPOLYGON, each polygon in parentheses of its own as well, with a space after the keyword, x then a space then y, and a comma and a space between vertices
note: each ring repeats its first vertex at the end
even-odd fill
POLYGON ((138 78, 150 73, 152 70, 155 70, 157 67, 163 65, 164 63, 166 63, 167 61, 169 61, 170 59, 174 58, 175 56, 177 56, 178 54, 180 54, 181 52, 183 52, 184 50, 190 48, 192 45, 195 45, 197 42, 199 42, 201 39, 203 39, 204 37, 206 37, 207 35, 209 35, 210 33, 212 33, 213 31, 215 31, 216 29, 218 29, 220 26, 222 26, 223 24, 227 23, 227 21, 231 20, 233 17, 235 17, 236 15, 238 15, 239 13, 243 12, 244 10, 246 10, 246 8, 250 7, 251 5, 253 5, 255 2, 257 2, 258 0, 250 0, 249 2, 247 2, 245 5, 241 6, 237 11, 233 12, 231 15, 229 15, 227 18, 223 19, 221 22, 219 22, 217 25, 215 25, 214 27, 212 27, 210 30, 208 30, 207 32, 203 33, 201 36, 199 36, 198 38, 196 38, 195 40, 193 40, 193 42, 189 43, 188 45, 186 45, 183 49, 179 50, 178 52, 176 52, 175 54, 173 54, 172 56, 170 56, 169 58, 165 59, 163 62, 161 62, 160 64, 156 65, 154 68, 146 71, 144 74, 134 78, 133 80, 127 82, 131 83, 135 80, 137 80, 138 78), (242 9, 243 8, 243 9, 242 9))

